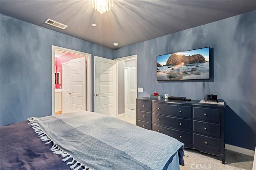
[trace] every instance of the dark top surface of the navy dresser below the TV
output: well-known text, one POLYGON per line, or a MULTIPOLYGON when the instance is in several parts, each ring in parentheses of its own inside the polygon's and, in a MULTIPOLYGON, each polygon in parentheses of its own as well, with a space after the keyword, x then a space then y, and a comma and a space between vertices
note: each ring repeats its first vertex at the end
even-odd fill
POLYGON ((165 98, 150 98, 150 97, 137 98, 136 100, 148 100, 148 101, 168 103, 168 104, 182 104, 182 105, 185 104, 185 105, 194 105, 194 106, 211 106, 211 107, 225 108, 225 104, 218 105, 218 104, 199 103, 200 100, 182 101, 182 100, 169 100, 165 98))

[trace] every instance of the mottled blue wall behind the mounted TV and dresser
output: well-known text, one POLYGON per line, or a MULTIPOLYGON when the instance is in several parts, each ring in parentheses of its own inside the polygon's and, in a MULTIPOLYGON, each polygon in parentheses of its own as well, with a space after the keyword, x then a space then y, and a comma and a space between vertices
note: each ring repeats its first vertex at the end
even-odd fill
POLYGON ((256 11, 172 33, 114 51, 114 59, 138 55, 138 97, 154 91, 204 100, 203 82, 156 81, 156 56, 210 46, 206 94, 226 102, 225 143, 250 150, 256 143, 256 11))

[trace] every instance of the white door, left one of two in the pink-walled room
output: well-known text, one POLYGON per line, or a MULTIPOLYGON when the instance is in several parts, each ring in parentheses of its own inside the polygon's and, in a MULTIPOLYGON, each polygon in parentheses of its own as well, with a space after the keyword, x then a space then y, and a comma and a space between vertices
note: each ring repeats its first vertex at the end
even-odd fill
POLYGON ((62 113, 70 112, 70 63, 62 63, 62 113))

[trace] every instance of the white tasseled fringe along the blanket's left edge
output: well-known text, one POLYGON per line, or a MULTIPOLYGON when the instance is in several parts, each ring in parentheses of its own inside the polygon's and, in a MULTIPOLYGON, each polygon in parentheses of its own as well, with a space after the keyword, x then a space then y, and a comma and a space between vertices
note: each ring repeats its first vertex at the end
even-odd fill
POLYGON ((72 161, 67 162, 67 165, 71 165, 70 169, 79 170, 80 168, 82 168, 82 166, 84 166, 83 170, 91 170, 90 168, 86 167, 84 164, 82 164, 82 163, 78 162, 76 159, 74 159, 70 154, 68 154, 64 150, 60 149, 60 147, 58 147, 58 145, 56 145, 56 143, 54 143, 54 141, 52 141, 52 139, 50 139, 50 137, 48 137, 48 135, 46 133, 44 133, 44 131, 41 129, 41 127, 37 123, 34 122, 33 117, 30 117, 27 120, 29 121, 28 124, 30 124, 30 126, 32 126, 32 129, 35 131, 36 134, 39 135, 39 137, 42 141, 48 141, 48 142, 46 142, 46 144, 53 143, 53 145, 51 147, 52 152, 54 154, 61 154, 63 157, 63 159, 62 159, 63 162, 66 162, 67 160, 72 158, 72 161))

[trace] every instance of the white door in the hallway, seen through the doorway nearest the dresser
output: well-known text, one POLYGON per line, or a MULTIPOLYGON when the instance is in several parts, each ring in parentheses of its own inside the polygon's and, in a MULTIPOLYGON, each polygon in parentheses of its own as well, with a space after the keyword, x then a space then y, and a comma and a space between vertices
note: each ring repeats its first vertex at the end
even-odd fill
POLYGON ((136 110, 136 69, 128 68, 128 108, 136 110))

